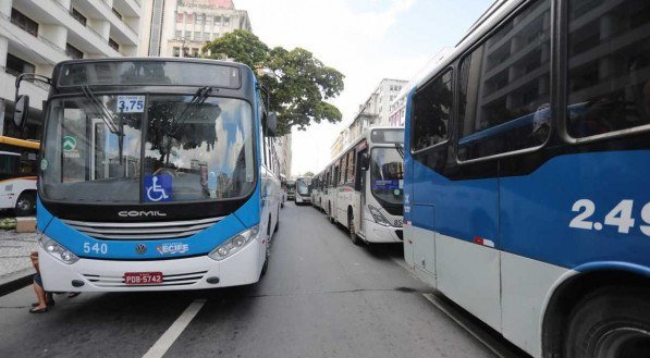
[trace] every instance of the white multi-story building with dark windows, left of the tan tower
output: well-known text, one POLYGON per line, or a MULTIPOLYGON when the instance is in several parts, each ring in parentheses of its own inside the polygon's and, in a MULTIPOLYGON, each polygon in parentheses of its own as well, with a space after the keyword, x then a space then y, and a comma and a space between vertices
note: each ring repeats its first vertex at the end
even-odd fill
MULTIPOLYGON (((139 44, 140 0, 0 0, 0 131, 12 126, 16 76, 51 76, 60 61, 135 55, 139 44)), ((48 86, 24 82, 29 116, 24 135, 40 138, 48 86)))

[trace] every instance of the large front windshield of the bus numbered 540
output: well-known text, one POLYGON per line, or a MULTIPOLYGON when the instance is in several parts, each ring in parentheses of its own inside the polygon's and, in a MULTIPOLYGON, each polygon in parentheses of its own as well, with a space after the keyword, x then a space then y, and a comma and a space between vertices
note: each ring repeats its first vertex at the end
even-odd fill
POLYGON ((44 198, 139 203, 246 195, 255 173, 250 106, 231 98, 196 99, 183 95, 53 99, 40 163, 44 198), (125 107, 124 101, 133 102, 125 107), (154 177, 158 181, 154 187, 164 187, 171 196, 147 195, 145 187, 154 177))

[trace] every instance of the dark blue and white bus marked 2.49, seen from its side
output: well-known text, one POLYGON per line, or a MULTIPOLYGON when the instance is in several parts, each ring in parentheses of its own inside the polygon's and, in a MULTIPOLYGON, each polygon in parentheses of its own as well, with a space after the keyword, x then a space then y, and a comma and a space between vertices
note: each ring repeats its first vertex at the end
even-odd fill
POLYGON ((650 356, 650 1, 496 1, 406 115, 420 277, 535 357, 650 356))

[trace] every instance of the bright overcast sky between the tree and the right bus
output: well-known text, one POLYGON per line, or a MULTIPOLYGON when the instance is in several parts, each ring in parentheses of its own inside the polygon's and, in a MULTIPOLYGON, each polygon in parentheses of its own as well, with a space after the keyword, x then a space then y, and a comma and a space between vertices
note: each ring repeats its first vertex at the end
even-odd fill
POLYGON ((270 47, 305 48, 345 75, 332 100, 338 124, 293 131, 292 174, 318 172, 330 147, 382 78, 410 79, 443 47, 453 47, 493 0, 234 0, 270 47))

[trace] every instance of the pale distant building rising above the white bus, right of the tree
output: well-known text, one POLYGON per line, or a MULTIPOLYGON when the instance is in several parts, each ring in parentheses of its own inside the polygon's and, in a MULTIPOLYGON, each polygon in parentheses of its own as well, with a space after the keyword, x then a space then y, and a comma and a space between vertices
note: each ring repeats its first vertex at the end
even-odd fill
POLYGON ((361 135, 367 127, 390 125, 390 104, 406 84, 407 82, 402 79, 382 79, 364 104, 359 106, 359 111, 352 123, 339 133, 330 149, 332 158, 336 157, 354 138, 361 135))

